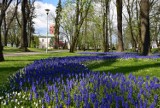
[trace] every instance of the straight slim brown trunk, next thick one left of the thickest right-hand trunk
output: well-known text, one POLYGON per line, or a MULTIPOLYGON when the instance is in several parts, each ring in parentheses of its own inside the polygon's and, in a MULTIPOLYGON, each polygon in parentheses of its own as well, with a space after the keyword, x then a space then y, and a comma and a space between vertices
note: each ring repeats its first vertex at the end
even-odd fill
POLYGON ((118 51, 124 51, 122 36, 122 0, 116 0, 117 7, 117 29, 118 29, 118 51))

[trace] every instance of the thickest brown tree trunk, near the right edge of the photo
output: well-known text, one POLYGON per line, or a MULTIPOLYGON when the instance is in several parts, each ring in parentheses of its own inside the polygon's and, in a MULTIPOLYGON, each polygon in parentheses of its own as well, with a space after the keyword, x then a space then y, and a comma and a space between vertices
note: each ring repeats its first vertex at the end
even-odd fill
POLYGON ((149 10, 150 10, 149 0, 141 0, 140 17, 141 17, 142 55, 148 55, 150 51, 149 10))

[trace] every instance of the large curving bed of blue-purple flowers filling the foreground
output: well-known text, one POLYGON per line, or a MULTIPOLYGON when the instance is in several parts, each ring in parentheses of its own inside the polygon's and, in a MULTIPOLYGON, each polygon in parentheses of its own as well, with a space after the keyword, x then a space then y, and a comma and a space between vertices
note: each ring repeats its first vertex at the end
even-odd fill
MULTIPOLYGON (((92 60, 120 58, 120 55, 59 57, 35 61, 10 77, 9 89, 4 91, 5 96, 0 97, 1 107, 160 107, 158 78, 92 72, 82 64, 92 60)), ((128 55, 131 57, 131 54, 128 55)))

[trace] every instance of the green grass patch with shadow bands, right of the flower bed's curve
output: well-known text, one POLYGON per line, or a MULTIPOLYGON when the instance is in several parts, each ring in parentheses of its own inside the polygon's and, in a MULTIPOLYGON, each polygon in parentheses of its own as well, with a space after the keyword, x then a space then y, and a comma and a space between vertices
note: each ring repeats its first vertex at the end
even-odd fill
POLYGON ((105 60, 86 63, 88 68, 93 71, 123 73, 135 76, 151 76, 160 78, 160 59, 128 59, 128 60, 105 60))

